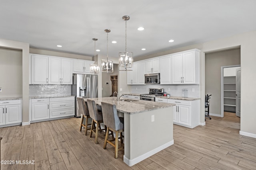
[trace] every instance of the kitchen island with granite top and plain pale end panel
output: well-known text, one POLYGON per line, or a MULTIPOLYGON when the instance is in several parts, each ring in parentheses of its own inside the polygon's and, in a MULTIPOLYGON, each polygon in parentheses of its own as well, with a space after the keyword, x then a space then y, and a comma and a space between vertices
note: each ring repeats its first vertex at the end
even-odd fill
POLYGON ((124 116, 124 162, 129 166, 173 145, 174 104, 145 100, 116 100, 116 97, 91 98, 116 105, 124 116), (132 101, 132 102, 130 102, 132 101))

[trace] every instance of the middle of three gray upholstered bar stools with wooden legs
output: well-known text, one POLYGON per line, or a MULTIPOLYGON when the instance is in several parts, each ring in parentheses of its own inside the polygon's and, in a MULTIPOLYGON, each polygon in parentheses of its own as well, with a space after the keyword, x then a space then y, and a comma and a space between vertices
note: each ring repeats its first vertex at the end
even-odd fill
POLYGON ((101 127, 100 127, 100 123, 103 123, 102 112, 97 108, 94 100, 87 99, 87 106, 88 106, 90 117, 92 118, 90 137, 92 137, 92 133, 94 133, 95 134, 95 144, 97 144, 98 143, 98 132, 105 130, 105 129, 101 129, 101 127), (94 127, 96 127, 95 131, 93 131, 94 127))

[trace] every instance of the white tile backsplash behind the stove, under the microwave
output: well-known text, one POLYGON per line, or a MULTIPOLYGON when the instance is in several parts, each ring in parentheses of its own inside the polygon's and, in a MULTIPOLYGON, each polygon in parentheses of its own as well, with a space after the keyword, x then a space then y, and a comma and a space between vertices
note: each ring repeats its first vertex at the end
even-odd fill
POLYGON ((170 94, 171 96, 182 97, 182 89, 188 89, 188 97, 189 98, 200 98, 200 88, 199 84, 154 84, 154 85, 132 85, 131 93, 138 94, 147 94, 149 88, 164 88, 164 92, 170 94), (192 92, 192 89, 194 91, 192 92))

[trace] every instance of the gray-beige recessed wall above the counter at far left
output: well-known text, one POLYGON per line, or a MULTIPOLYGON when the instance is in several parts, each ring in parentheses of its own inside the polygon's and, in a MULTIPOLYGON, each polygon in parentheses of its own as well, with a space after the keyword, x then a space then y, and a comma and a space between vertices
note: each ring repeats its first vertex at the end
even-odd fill
POLYGON ((0 98, 22 97, 22 50, 0 47, 0 98))

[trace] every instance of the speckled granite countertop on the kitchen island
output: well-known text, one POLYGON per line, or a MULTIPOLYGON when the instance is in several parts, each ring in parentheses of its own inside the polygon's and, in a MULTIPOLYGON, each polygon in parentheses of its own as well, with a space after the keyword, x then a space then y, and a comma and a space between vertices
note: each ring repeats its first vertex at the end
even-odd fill
MULTIPOLYGON (((90 98, 95 100, 96 104, 101 106, 101 102, 108 102, 111 104, 116 105, 117 111, 127 113, 127 114, 136 114, 145 111, 151 111, 156 109, 163 109, 166 107, 175 106, 175 104, 168 104, 168 103, 160 103, 160 102, 150 102, 145 100, 134 100, 134 102, 124 102, 116 100, 116 97, 113 100, 113 97, 106 97, 106 98, 90 98)), ((126 99, 127 100, 127 99, 126 99)))

